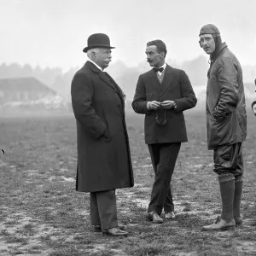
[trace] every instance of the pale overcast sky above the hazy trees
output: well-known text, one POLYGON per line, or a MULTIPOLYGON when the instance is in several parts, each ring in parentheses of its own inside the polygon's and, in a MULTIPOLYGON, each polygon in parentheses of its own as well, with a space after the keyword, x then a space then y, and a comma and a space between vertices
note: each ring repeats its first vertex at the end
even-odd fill
POLYGON ((256 0, 0 0, 0 63, 81 66, 95 32, 107 33, 113 61, 145 61, 145 45, 162 39, 167 58, 205 55, 201 26, 218 26, 243 65, 256 64, 256 0))

